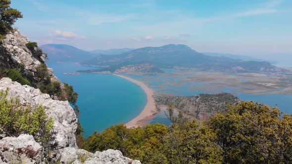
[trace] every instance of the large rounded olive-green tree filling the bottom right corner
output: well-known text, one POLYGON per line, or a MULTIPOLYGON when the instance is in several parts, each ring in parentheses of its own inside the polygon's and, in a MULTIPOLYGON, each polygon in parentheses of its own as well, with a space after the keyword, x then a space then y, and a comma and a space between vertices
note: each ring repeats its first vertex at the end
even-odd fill
POLYGON ((292 116, 252 101, 210 118, 208 128, 224 152, 224 163, 292 163, 292 116))

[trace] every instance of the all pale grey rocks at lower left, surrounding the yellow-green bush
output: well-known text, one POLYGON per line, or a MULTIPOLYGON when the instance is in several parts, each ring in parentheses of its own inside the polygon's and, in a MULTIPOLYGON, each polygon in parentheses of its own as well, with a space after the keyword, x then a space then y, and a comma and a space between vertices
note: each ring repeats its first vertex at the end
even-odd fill
MULTIPOLYGON (((0 80, 0 90, 5 91, 7 88, 9 89, 8 99, 19 97, 20 103, 24 106, 42 104, 48 117, 53 119, 54 138, 57 145, 56 150, 49 153, 51 161, 61 162, 62 164, 141 164, 139 161, 124 157, 117 150, 107 150, 93 154, 78 149, 74 134, 77 128, 77 117, 68 101, 53 100, 39 89, 12 82, 9 78, 2 78, 0 80)), ((48 161, 45 148, 36 142, 32 135, 21 134, 18 137, 7 137, 1 133, 0 139, 0 164, 39 164, 48 161)))

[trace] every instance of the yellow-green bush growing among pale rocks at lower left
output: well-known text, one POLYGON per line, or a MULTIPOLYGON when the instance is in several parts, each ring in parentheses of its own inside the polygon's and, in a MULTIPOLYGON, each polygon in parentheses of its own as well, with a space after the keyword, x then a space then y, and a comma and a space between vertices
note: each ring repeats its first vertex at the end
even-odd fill
POLYGON ((18 98, 7 99, 8 89, 0 91, 0 128, 8 136, 31 134, 41 143, 48 143, 53 120, 48 118, 42 105, 23 107, 18 98))

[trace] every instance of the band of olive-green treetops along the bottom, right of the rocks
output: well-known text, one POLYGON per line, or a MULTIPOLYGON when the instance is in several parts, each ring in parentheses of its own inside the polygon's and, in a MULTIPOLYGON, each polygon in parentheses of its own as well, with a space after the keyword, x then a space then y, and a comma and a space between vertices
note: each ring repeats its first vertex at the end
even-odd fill
POLYGON ((228 108, 226 114, 218 113, 201 124, 185 122, 183 117, 169 127, 118 124, 89 136, 83 148, 117 149, 143 164, 292 163, 291 115, 251 101, 228 108))

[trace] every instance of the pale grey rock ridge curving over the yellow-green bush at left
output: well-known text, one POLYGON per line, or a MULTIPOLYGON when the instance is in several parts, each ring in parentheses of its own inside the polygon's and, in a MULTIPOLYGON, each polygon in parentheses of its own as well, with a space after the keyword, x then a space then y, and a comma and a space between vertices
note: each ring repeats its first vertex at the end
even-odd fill
POLYGON ((46 107, 46 113, 54 120, 53 130, 56 132, 57 148, 77 147, 74 134, 77 118, 68 101, 53 100, 49 94, 43 94, 40 89, 12 82, 9 78, 2 78, 0 90, 4 91, 7 87, 9 88, 8 98, 18 96, 22 104, 32 106, 43 104, 46 107))

